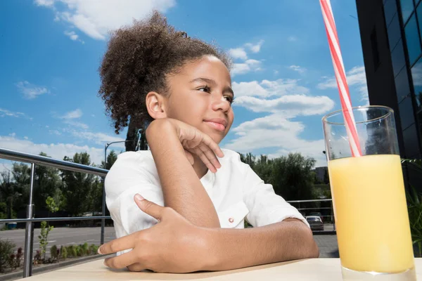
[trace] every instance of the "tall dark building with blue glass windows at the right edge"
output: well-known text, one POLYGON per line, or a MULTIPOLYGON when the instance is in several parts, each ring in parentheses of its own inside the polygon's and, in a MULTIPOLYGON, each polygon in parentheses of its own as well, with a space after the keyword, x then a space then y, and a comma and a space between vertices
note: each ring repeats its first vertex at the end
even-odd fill
MULTIPOLYGON (((395 111, 402 158, 422 157, 422 2, 357 0, 371 105, 395 111)), ((422 190, 422 175, 404 167, 405 181, 422 190)))

